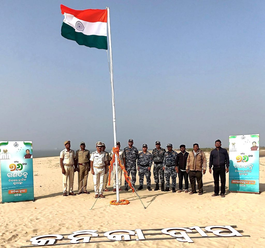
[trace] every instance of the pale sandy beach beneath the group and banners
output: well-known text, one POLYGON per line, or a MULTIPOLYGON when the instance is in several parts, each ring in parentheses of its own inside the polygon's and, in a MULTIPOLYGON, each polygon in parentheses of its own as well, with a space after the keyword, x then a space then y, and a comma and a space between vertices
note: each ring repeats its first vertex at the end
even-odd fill
MULTIPOLYGON (((207 166, 209 165, 209 153, 207 166)), ((208 171, 203 176, 204 194, 152 190, 138 191, 147 209, 135 193, 121 191, 121 199, 130 200, 129 205, 111 206, 116 193, 105 192, 105 199, 95 202, 92 175, 89 173, 88 190, 91 194, 62 196, 62 174, 58 157, 33 159, 35 201, 0 204, 1 238, 0 247, 20 247, 30 245, 26 242, 31 236, 46 234, 65 234, 84 229, 99 232, 115 229, 154 229, 167 227, 191 227, 211 225, 236 225, 243 235, 250 237, 196 238, 194 243, 172 240, 116 241, 95 244, 74 244, 56 247, 263 247, 265 240, 265 157, 260 158, 260 195, 248 193, 226 193, 225 198, 211 197, 214 190, 213 175, 208 171)), ((154 188, 153 172, 151 175, 154 188)), ((144 181, 145 183, 145 181, 144 181)), ((112 185, 112 183, 111 183, 112 185)), ((124 185, 124 177, 122 179, 124 185)), ((137 175, 136 187, 139 185, 137 175)), ((228 174, 227 174, 228 191, 228 174)), ((178 180, 177 186, 178 188, 178 180)), ((124 187, 122 186, 122 189, 124 187)), ((77 173, 75 173, 74 192, 77 192, 77 173)), ((0 195, 2 199, 2 195, 0 195)))

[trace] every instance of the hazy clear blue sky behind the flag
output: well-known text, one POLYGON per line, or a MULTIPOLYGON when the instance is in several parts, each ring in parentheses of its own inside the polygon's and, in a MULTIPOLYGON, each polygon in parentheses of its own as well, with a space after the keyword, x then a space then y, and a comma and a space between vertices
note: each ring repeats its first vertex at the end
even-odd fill
POLYGON ((60 4, 110 7, 122 148, 264 146, 264 1, 2 1, 0 140, 113 146, 106 51, 61 36, 60 4))

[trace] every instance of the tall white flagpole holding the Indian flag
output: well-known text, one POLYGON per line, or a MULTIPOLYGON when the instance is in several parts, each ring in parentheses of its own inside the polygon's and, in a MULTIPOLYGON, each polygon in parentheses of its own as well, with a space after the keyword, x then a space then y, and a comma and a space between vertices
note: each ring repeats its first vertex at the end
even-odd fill
MULTIPOLYGON (((114 147, 117 147, 116 144, 116 116, 115 116, 115 101, 114 101, 114 88, 113 88, 113 69, 112 69, 112 52, 111 52, 111 24, 109 21, 109 7, 107 7, 108 12, 108 37, 109 37, 109 59, 110 59, 110 76, 111 76, 111 99, 112 99, 112 117, 113 117, 113 136, 114 136, 114 147)), ((115 154, 115 166, 116 166, 116 197, 117 202, 120 201, 119 194, 119 175, 118 175, 118 160, 117 155, 115 154)), ((110 173, 110 172, 109 172, 110 173)))

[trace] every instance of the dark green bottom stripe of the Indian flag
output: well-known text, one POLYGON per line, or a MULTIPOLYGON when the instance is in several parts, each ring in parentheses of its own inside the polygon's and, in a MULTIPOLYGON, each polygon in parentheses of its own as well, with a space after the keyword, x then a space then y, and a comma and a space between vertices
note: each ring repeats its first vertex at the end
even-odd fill
POLYGON ((76 32, 73 27, 64 22, 61 28, 61 35, 68 40, 75 40, 79 45, 108 49, 107 36, 85 35, 81 32, 76 32))

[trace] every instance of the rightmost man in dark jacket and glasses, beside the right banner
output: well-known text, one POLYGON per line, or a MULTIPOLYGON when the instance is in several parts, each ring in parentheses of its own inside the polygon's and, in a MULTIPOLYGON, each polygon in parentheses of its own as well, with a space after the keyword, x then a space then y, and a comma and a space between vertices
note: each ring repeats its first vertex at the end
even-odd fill
POLYGON ((219 195, 219 177, 221 179, 221 197, 225 197, 226 192, 226 173, 229 171, 229 156, 226 149, 221 147, 220 139, 215 141, 215 149, 210 153, 209 172, 214 177, 214 194, 212 196, 219 195))

